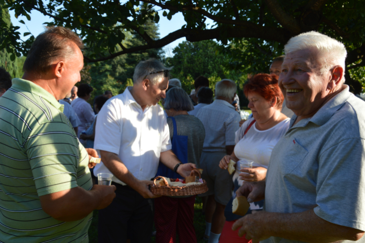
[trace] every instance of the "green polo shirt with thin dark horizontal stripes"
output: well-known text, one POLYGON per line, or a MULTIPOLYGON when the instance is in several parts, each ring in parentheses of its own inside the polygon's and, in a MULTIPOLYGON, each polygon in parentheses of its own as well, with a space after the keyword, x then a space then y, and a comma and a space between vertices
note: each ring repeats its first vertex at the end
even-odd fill
POLYGON ((91 190, 89 157, 59 104, 36 84, 13 79, 0 97, 0 242, 88 242, 92 213, 62 222, 39 196, 91 190))

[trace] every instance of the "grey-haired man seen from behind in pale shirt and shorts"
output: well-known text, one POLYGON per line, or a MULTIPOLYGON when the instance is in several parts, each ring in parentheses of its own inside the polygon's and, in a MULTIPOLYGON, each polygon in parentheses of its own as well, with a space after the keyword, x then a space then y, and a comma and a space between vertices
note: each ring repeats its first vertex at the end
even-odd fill
POLYGON ((215 90, 216 100, 202 107, 196 115, 205 128, 200 165, 208 191, 201 196, 208 196, 204 238, 209 238, 209 243, 218 243, 225 222, 224 208, 232 196, 232 177, 219 168, 219 161, 225 155, 231 155, 236 144, 235 133, 241 120, 232 105, 236 91, 237 86, 232 80, 219 81, 215 90))

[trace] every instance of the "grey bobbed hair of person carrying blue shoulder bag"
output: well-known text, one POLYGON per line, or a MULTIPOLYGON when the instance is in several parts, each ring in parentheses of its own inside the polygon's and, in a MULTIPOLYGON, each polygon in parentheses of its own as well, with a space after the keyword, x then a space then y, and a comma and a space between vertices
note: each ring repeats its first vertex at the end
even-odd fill
POLYGON ((164 99, 165 110, 174 109, 176 111, 184 110, 191 111, 194 110, 194 105, 191 102, 189 96, 179 87, 174 87, 168 90, 166 93, 166 98, 164 99))

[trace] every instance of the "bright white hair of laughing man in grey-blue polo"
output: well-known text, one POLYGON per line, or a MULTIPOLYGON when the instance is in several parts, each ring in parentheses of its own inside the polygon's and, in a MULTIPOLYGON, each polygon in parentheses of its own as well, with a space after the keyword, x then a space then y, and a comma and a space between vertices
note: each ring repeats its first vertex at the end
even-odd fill
MULTIPOLYGON (((302 33, 292 37, 284 46, 285 55, 289 52, 295 52, 306 49, 314 49, 318 51, 320 61, 320 73, 323 75, 333 66, 339 65, 344 69, 347 51, 341 42, 327 35, 320 34, 315 31, 302 33)), ((343 81, 345 78, 343 78, 343 81)))

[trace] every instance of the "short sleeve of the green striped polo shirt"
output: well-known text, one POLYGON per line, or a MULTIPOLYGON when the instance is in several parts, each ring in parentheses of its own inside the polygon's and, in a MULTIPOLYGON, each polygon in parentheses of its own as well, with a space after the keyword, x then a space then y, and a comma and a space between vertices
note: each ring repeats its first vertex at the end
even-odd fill
POLYGON ((65 123, 46 122, 25 140, 38 196, 77 187, 78 140, 65 123))

